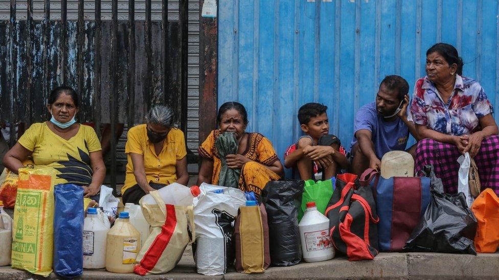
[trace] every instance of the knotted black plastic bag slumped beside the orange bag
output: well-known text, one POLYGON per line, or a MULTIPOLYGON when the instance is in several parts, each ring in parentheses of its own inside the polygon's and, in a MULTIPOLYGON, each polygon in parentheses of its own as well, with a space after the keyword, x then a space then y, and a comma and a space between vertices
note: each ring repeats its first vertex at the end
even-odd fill
POLYGON ((405 243, 405 251, 477 254, 473 239, 477 219, 466 205, 464 193, 443 193, 433 166, 425 166, 432 179, 432 197, 420 223, 405 243))

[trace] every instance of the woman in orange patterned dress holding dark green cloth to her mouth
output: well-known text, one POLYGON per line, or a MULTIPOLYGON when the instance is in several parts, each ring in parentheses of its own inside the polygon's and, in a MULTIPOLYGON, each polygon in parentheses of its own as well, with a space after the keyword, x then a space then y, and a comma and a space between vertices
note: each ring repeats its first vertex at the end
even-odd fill
POLYGON ((236 155, 227 155, 227 166, 240 169, 238 188, 253 191, 257 196, 267 182, 279 180, 283 167, 270 141, 259 133, 247 133, 247 113, 244 106, 237 102, 227 102, 220 106, 217 116, 220 129, 214 130, 199 146, 202 157, 197 184, 218 184, 221 170, 220 155, 215 147, 216 139, 224 132, 234 132, 238 142, 236 155))

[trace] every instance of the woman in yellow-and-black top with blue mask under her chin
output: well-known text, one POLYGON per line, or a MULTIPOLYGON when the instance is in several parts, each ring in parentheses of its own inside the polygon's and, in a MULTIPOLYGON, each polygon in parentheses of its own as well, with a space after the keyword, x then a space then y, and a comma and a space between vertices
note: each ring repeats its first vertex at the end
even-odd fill
POLYGON ((106 175, 101 144, 90 126, 77 123, 80 99, 70 87, 50 93, 50 121, 34 123, 4 156, 4 165, 17 173, 29 156, 35 167, 56 170, 55 184, 82 186, 85 197, 99 201, 98 192, 106 175))

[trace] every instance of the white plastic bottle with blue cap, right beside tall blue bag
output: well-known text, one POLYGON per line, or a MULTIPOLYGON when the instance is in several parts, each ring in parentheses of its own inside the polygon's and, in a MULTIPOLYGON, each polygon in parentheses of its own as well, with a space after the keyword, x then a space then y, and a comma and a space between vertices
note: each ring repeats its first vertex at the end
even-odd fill
POLYGON ((106 266, 106 236, 109 227, 99 218, 97 209, 88 208, 83 224, 83 268, 106 266))

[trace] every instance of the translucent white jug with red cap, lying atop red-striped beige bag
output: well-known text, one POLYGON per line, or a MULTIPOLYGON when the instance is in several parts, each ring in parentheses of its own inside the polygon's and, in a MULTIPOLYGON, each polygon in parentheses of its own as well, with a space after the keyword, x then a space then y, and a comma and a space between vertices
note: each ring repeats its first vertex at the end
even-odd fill
MULTIPOLYGON (((166 204, 177 206, 192 205, 192 199, 201 193, 198 186, 192 186, 189 188, 178 183, 170 184, 157 190, 156 192, 160 194, 166 204)), ((141 200, 142 203, 156 204, 156 201, 150 194, 146 194, 141 200)))

